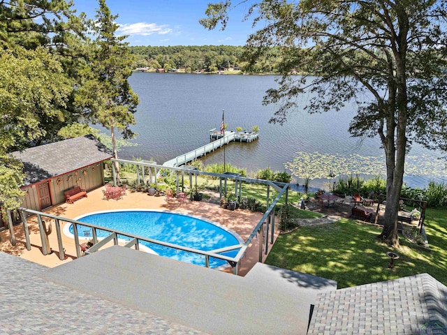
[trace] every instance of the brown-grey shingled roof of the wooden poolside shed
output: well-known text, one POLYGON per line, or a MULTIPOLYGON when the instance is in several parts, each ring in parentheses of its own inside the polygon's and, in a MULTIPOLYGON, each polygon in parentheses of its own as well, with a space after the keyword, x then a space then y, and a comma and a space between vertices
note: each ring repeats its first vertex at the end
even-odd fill
POLYGON ((113 157, 112 151, 93 135, 39 145, 10 153, 20 159, 30 185, 113 157))

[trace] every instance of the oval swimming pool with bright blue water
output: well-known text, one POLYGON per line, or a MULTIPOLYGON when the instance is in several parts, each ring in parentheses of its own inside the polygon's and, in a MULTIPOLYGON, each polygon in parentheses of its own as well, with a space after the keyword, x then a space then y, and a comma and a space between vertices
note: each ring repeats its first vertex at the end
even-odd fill
MULTIPOLYGON (((200 251, 211 251, 244 243, 238 234, 217 223, 168 211, 142 209, 100 211, 80 216, 75 220, 179 246, 196 248, 200 251)), ((73 238, 73 226, 71 224, 66 225, 64 233, 73 238)), ((109 233, 104 230, 96 230, 96 234, 101 239, 101 237, 108 236, 109 233)), ((81 239, 91 239, 91 228, 78 225, 78 235, 81 239)), ((129 239, 122 235, 119 235, 119 238, 129 239)), ((146 241, 140 241, 140 244, 158 255, 205 266, 205 256, 203 255, 187 253, 146 241)), ((221 253, 221 255, 233 257, 237 254, 237 251, 229 251, 221 253)), ((228 263, 223 260, 210 258, 210 267, 219 267, 226 264, 228 263)))

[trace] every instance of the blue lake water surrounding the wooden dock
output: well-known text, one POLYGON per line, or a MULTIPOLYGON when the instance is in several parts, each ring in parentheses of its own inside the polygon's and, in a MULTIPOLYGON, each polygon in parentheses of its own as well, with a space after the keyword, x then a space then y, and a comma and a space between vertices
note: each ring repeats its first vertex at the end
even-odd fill
MULTIPOLYGON (((263 106, 262 100, 265 91, 276 86, 271 75, 133 73, 129 82, 140 97, 137 124, 132 127, 139 133, 132 141, 138 146, 122 148, 120 158, 152 158, 161 164, 201 147, 210 142, 210 129, 220 128, 222 110, 227 130, 237 126, 260 128, 258 140, 231 143, 225 149, 226 163, 247 168, 248 172, 267 166, 284 171, 284 163, 293 161, 298 151, 383 157, 378 138, 349 135, 355 105, 323 114, 298 109, 284 126, 269 124, 274 106, 263 106)), ((302 106, 308 99, 304 97, 302 106)), ((410 153, 423 154, 432 163, 437 162, 439 155, 421 147, 413 147, 410 153)), ((204 163, 223 163, 223 149, 201 159, 204 163)), ((431 177, 444 178, 437 172, 434 176, 406 176, 405 181, 411 186, 424 186, 431 177)))

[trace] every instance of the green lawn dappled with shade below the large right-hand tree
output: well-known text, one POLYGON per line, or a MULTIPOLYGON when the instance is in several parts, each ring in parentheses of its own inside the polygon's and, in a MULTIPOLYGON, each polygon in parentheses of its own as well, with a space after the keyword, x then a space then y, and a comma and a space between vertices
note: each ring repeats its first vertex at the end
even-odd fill
POLYGON ((427 209, 425 224, 431 251, 404 237, 393 250, 376 239, 381 228, 343 219, 280 235, 265 263, 333 279, 338 288, 424 272, 447 285, 447 209, 427 209), (388 269, 387 251, 400 255, 394 269, 388 269))

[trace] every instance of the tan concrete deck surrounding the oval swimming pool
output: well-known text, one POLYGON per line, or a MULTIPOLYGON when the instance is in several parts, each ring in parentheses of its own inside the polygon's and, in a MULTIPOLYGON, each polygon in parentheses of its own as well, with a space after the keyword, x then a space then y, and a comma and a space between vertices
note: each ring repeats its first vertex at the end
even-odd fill
MULTIPOLYGON (((254 227, 262 217, 261 213, 252 213, 251 211, 241 209, 230 211, 219 207, 217 204, 204 201, 191 202, 187 200, 186 203, 166 202, 165 197, 153 197, 147 195, 147 193, 131 193, 130 191, 127 191, 127 195, 124 195, 120 200, 103 200, 102 189, 103 187, 89 192, 87 198, 77 200, 74 204, 60 204, 56 207, 45 210, 45 213, 62 216, 64 218, 75 218, 82 214, 88 214, 94 211, 106 211, 112 209, 156 209, 163 211, 174 211, 177 213, 205 218, 215 223, 219 223, 226 228, 237 232, 237 234, 239 234, 244 241, 247 240, 254 227)), ((28 219, 28 222, 31 239, 31 251, 28 251, 25 248, 23 225, 17 225, 14 227, 15 237, 17 240, 16 246, 11 246, 8 230, 0 232, 0 251, 5 251, 13 255, 20 256, 20 258, 45 265, 46 267, 57 267, 58 265, 66 262, 71 262, 71 260, 76 258, 74 239, 66 237, 62 234, 62 241, 68 258, 66 260, 59 260, 57 234, 54 228, 54 223, 52 233, 48 236, 50 246, 54 252, 50 255, 43 255, 41 251, 41 237, 38 234, 38 225, 36 220, 31 217, 28 219)), ((61 229, 63 229, 63 225, 61 225, 61 229)), ((276 241, 277 236, 278 230, 275 230, 274 241, 276 241)), ((256 262, 258 262, 258 243, 259 239, 255 238, 251 242, 249 248, 247 248, 247 253, 240 262, 240 268, 238 270, 240 276, 245 276, 245 274, 247 274, 248 271, 254 267, 256 262)), ((270 251, 271 247, 272 244, 269 244, 268 251, 270 251)), ((266 257, 267 255, 263 253, 263 261, 266 257)), ((231 269, 229 268, 228 270, 230 271, 231 269)))

